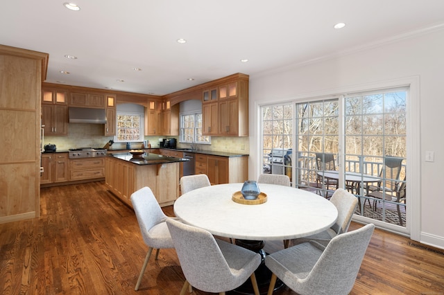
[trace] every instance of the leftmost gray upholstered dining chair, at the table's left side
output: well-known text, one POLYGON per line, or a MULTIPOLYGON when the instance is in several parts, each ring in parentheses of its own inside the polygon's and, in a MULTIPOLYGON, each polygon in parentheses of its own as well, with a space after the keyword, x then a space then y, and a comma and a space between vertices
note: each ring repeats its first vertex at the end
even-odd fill
POLYGON ((146 265, 148 265, 148 260, 150 259, 153 249, 157 249, 155 253, 155 260, 157 260, 159 249, 174 248, 168 226, 165 223, 166 220, 173 219, 173 217, 168 217, 164 214, 159 203, 157 203, 151 188, 148 188, 147 186, 135 191, 130 199, 136 213, 142 238, 148 246, 144 265, 142 265, 135 287, 135 290, 137 291, 142 282, 146 265))

